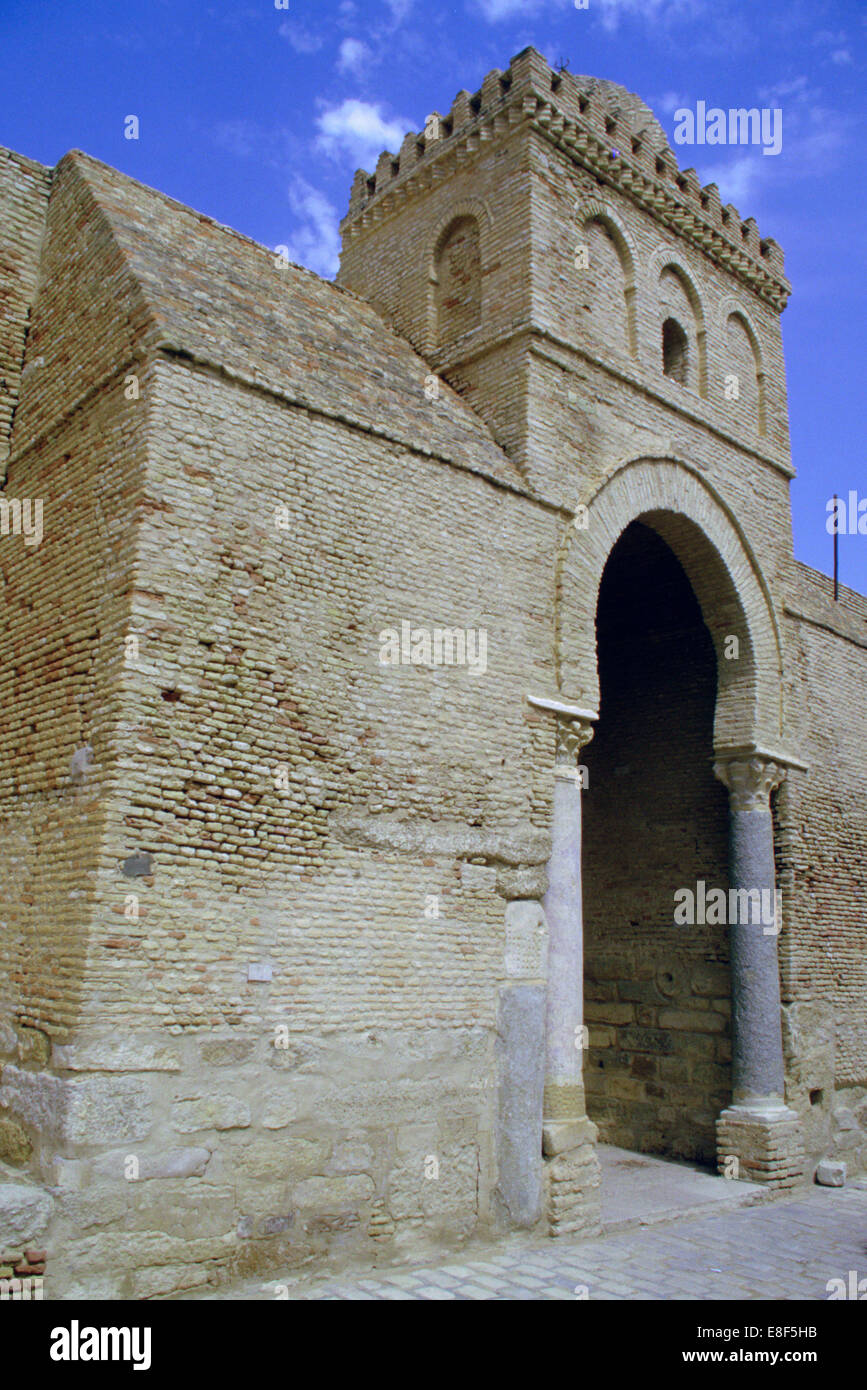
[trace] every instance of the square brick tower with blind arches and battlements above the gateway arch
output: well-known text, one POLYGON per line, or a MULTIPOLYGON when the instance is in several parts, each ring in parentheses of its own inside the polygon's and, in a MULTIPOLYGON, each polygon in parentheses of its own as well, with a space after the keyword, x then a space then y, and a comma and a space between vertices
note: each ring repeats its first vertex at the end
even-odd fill
POLYGON ((757 470, 791 555, 782 252, 678 168, 639 97, 527 49, 358 171, 342 232, 339 284, 461 392, 532 492, 574 507, 639 455, 685 457, 722 492, 757 470))

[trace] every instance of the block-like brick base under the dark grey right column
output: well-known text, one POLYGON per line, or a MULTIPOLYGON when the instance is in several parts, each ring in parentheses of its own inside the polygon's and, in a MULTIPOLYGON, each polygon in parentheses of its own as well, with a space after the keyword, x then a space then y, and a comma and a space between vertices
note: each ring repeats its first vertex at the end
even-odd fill
POLYGON ((800 1118, 781 1102, 729 1105, 717 1120, 717 1170, 764 1187, 795 1187, 804 1173, 800 1118))

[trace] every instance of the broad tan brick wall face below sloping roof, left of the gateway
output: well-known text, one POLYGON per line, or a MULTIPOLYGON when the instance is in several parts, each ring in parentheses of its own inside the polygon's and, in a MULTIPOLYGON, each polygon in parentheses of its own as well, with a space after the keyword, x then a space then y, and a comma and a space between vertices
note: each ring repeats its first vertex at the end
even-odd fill
POLYGON ((496 1180, 514 895, 497 880, 547 855, 550 730, 524 687, 547 660, 550 596, 532 575, 550 518, 206 373, 160 364, 150 410, 107 926, 61 1062, 114 1070, 122 1026, 133 1127, 114 1143, 100 1130, 99 1162, 96 1136, 67 1131, 89 1195, 61 1216, 114 1191, 111 1220, 94 1220, 126 1232, 136 1269, 164 1222, 192 1237, 206 1198, 211 1222, 222 1213, 207 1250, 235 1268, 339 1254, 371 1232, 467 1234, 496 1180), (422 535, 406 491, 436 518, 422 535), (522 602, 534 589, 539 607, 522 602), (486 674, 381 666, 379 634, 403 620, 485 630, 486 674), (135 855, 147 872, 125 878, 135 855), (131 892, 138 920, 122 915, 131 892), (160 1176, 190 1145, 201 1172, 160 1176), (143 1208, 122 1177, 131 1155, 156 1165, 143 1208))

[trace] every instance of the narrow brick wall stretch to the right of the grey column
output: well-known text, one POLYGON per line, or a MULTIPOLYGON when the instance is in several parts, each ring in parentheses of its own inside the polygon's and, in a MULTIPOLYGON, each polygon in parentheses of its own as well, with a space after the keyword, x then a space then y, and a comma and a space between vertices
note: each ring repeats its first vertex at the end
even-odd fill
POLYGON ((789 681, 806 774, 781 792, 789 1104, 813 1163, 867 1163, 867 599, 798 566, 789 681), (784 795, 785 792, 785 795, 784 795))

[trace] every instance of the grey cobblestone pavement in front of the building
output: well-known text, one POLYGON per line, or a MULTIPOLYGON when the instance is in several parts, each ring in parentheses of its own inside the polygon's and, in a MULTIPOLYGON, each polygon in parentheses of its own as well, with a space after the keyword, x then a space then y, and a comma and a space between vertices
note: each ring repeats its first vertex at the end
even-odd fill
MULTIPOLYGON (((247 1282, 211 1298, 293 1300, 827 1300, 831 1279, 867 1279, 867 1179, 591 1241, 475 1250, 436 1265, 340 1279, 247 1282)), ((206 1295, 207 1297, 207 1295, 206 1295)))

